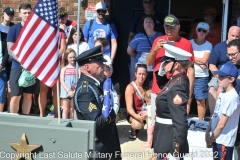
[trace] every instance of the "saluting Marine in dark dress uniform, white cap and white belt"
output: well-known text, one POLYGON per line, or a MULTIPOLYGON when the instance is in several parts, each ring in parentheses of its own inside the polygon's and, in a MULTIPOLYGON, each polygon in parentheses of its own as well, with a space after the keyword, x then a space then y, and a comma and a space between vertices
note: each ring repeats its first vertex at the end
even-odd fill
POLYGON ((169 44, 164 44, 163 48, 165 56, 162 58, 159 75, 170 72, 172 77, 156 98, 157 117, 153 148, 154 153, 158 154, 158 160, 169 156, 183 157, 189 152, 187 141, 189 80, 184 72, 193 63, 188 60, 192 56, 191 53, 169 44))

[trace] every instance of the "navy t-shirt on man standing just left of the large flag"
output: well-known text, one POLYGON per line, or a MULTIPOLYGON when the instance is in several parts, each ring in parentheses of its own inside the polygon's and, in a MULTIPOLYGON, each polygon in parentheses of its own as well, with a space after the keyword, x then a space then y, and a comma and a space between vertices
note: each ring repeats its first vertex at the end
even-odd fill
MULTIPOLYGON (((23 26, 21 23, 17 23, 14 26, 10 27, 7 35, 7 42, 15 43, 22 27, 23 26)), ((14 59, 12 59, 12 69, 17 69, 17 68, 21 69, 22 68, 21 64, 15 61, 14 59)))

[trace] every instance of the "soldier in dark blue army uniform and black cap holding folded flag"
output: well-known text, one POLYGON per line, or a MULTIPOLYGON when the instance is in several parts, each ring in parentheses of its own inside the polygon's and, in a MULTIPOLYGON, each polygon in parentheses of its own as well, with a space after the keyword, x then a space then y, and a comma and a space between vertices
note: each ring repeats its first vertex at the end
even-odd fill
POLYGON ((84 51, 77 58, 81 76, 74 95, 74 108, 79 120, 96 122, 95 151, 112 157, 95 158, 96 160, 120 160, 121 149, 115 123, 116 114, 112 109, 107 118, 102 114, 103 90, 98 80, 103 75, 101 46, 84 51))

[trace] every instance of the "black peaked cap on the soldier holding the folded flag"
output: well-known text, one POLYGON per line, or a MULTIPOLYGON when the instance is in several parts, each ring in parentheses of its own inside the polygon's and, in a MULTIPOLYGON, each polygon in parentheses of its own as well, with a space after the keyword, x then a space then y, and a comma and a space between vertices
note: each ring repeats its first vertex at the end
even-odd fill
POLYGON ((102 46, 97 46, 82 52, 75 61, 78 65, 84 65, 89 62, 107 62, 107 60, 103 58, 102 46))

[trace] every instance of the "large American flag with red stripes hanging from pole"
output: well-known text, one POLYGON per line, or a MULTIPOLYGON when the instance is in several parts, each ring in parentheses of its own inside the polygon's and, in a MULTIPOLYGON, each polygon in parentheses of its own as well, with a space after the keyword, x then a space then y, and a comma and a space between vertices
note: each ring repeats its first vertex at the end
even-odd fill
POLYGON ((60 72, 57 0, 38 1, 11 50, 23 68, 47 86, 55 84, 60 72))

